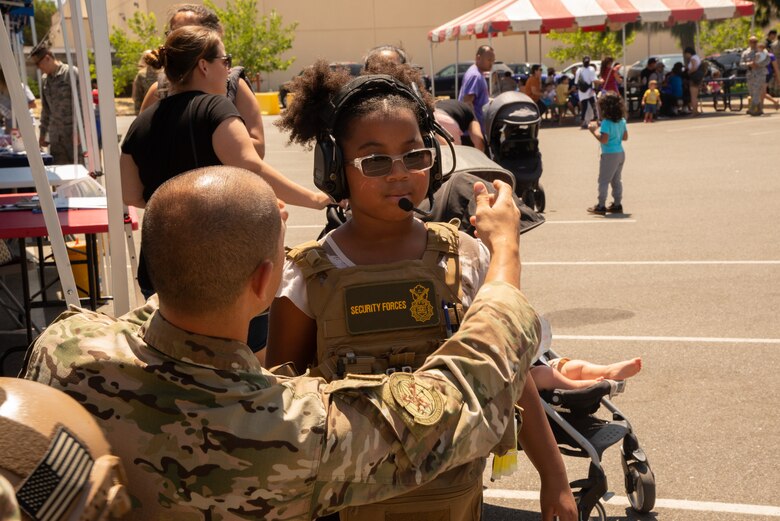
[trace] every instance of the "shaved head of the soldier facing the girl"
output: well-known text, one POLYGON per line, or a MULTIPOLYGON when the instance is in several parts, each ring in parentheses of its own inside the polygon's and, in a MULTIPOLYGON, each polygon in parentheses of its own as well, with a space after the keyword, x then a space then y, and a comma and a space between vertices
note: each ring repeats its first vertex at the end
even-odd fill
POLYGON ((261 263, 281 259, 281 233, 278 202, 265 181, 241 168, 212 166, 155 191, 141 245, 160 301, 203 315, 228 309, 261 263))

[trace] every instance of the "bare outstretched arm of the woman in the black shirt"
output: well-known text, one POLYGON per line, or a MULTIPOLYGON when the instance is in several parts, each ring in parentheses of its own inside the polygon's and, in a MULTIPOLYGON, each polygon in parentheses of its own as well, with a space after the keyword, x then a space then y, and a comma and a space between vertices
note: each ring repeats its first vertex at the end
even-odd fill
POLYGON ((276 197, 287 204, 322 210, 331 202, 324 192, 304 188, 260 159, 246 126, 237 117, 219 124, 211 136, 211 144, 223 165, 245 168, 258 174, 271 185, 276 197))

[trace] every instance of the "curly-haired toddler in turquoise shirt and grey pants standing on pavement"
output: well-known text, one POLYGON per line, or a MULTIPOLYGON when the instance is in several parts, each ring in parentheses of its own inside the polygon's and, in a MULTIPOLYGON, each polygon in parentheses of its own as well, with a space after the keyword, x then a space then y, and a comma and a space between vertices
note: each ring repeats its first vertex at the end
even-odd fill
POLYGON ((623 213, 623 164, 626 153, 623 141, 628 139, 623 100, 614 93, 607 92, 599 98, 599 112, 603 118, 601 129, 597 122, 588 125, 588 130, 601 143, 601 162, 599 163, 599 200, 588 212, 598 215, 623 213), (607 188, 612 187, 612 204, 606 207, 607 188))

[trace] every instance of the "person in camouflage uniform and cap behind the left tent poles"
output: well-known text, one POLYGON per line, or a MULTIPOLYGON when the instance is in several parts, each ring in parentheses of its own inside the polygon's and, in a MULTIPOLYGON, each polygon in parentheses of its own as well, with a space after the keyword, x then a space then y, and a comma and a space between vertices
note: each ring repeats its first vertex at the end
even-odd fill
MULTIPOLYGON (((74 162, 73 93, 70 67, 54 57, 49 49, 40 47, 30 58, 41 72, 41 129, 38 144, 48 146, 54 164, 74 162), (48 134, 48 139, 46 135, 48 134)), ((78 92, 78 70, 73 67, 78 92)))

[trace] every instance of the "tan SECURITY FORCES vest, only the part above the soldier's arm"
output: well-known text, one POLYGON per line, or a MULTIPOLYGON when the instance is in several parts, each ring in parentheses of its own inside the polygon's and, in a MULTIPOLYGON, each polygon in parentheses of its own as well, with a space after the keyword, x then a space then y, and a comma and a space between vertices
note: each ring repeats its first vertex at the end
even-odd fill
POLYGON ((427 226, 418 260, 338 269, 327 246, 316 241, 288 253, 303 273, 317 318, 313 375, 333 380, 346 373, 411 372, 457 330, 463 317, 458 248, 477 256, 478 246, 450 224, 427 226))

